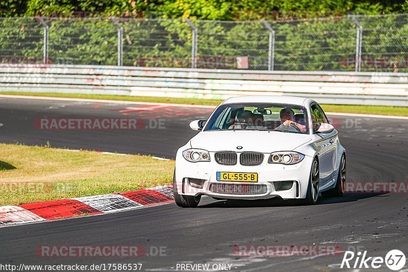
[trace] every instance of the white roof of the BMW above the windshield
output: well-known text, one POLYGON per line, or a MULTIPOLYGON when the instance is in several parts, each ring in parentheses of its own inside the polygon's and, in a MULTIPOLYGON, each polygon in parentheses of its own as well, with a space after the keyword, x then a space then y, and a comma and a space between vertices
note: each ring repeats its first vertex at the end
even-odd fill
POLYGON ((237 96, 226 99, 222 104, 230 103, 276 103, 276 104, 291 104, 304 105, 305 100, 311 100, 305 97, 298 96, 278 96, 278 95, 247 95, 237 96))

